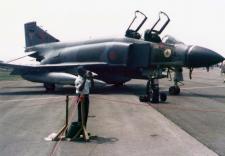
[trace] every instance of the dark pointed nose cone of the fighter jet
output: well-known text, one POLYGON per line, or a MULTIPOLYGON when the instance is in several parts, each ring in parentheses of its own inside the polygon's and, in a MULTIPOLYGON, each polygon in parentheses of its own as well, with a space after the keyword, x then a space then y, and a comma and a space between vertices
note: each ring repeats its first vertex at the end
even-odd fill
POLYGON ((220 54, 199 46, 191 46, 188 50, 188 67, 209 67, 222 62, 224 57, 220 54))

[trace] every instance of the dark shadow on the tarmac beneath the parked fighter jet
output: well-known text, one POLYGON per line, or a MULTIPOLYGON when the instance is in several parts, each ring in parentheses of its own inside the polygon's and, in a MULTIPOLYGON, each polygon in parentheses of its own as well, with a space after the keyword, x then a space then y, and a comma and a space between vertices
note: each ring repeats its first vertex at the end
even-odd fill
MULTIPOLYGON (((42 86, 23 86, 23 87, 10 87, 10 89, 15 88, 14 91, 9 90, 1 92, 0 96, 24 96, 24 95, 75 95, 75 89, 73 86, 59 87, 55 92, 46 92, 42 86), (26 89, 27 88, 27 89, 26 89), (20 90, 16 90, 20 89, 20 90), (30 90, 32 89, 32 90, 30 90), (35 90, 37 89, 37 90, 35 90)), ((163 89, 162 89, 163 90, 163 89)), ((168 91, 163 91, 168 96, 168 91)), ((93 90, 91 90, 91 94, 101 94, 101 95, 110 95, 110 94, 124 94, 124 95, 144 95, 145 94, 145 84, 125 84, 124 86, 114 86, 114 85, 106 85, 106 84, 97 84, 93 90)), ((190 96, 190 97, 204 97, 204 98, 219 98, 225 99, 225 95, 215 95, 215 94, 204 94, 204 93, 186 93, 181 92, 178 97, 182 96, 190 96)))

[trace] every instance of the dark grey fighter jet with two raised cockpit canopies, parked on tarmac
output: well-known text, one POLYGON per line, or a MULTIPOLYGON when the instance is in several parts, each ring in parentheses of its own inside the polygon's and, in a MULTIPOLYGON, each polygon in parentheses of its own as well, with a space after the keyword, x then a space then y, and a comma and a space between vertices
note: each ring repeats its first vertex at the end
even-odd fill
POLYGON ((193 68, 209 67, 224 60, 207 48, 186 45, 170 36, 161 39, 159 35, 170 22, 164 12, 159 13, 159 19, 142 38, 138 31, 146 20, 144 13, 135 11, 124 38, 71 43, 60 42, 36 22, 29 22, 25 24, 25 52, 40 64, 0 63, 0 67, 11 69, 11 74, 21 75, 26 80, 43 83, 47 91, 53 91, 56 84, 73 85, 78 66, 95 73, 95 79, 109 84, 122 85, 131 79, 148 80, 147 90, 154 90, 155 80, 168 76, 169 72, 165 71, 174 71, 174 86, 169 93, 179 94, 182 67, 190 69, 191 77, 193 68), (142 20, 137 24, 139 16, 142 20), (160 27, 162 18, 166 20, 160 27))

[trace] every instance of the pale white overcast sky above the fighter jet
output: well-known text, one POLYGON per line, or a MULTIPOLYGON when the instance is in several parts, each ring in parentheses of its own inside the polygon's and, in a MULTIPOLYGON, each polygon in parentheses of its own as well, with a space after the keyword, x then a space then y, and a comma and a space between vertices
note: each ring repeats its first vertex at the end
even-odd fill
POLYGON ((224 9, 224 0, 2 0, 0 60, 25 55, 26 22, 36 21, 60 41, 124 37, 135 10, 148 16, 141 33, 164 11, 171 22, 162 37, 169 34, 225 57, 224 9))

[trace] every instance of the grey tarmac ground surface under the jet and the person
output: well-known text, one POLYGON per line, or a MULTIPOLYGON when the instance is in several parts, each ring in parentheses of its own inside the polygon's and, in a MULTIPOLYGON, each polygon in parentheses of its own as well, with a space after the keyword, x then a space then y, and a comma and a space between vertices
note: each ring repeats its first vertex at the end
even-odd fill
MULTIPOLYGON (((180 96, 158 105, 138 101, 145 83, 98 84, 88 120, 94 137, 84 143, 44 140, 63 126, 65 95, 73 95, 73 88, 47 94, 41 84, 1 81, 0 155, 225 155, 225 84, 218 70, 194 71, 180 96)), ((160 81, 162 90, 171 84, 160 81)))

